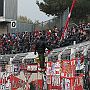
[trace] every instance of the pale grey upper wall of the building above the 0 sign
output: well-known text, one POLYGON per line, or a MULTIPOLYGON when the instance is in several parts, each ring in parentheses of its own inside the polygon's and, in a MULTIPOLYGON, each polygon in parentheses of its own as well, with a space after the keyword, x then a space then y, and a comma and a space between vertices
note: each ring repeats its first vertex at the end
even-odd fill
POLYGON ((0 22, 17 19, 17 0, 0 0, 0 22))

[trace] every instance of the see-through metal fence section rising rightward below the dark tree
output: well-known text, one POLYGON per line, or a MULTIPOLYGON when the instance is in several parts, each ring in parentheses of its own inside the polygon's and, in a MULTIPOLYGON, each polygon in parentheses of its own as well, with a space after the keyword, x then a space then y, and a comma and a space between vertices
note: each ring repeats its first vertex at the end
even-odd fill
POLYGON ((52 29, 54 26, 61 29, 65 25, 68 14, 69 14, 69 8, 67 8, 65 12, 61 14, 59 17, 54 17, 53 19, 50 19, 48 21, 35 24, 35 29, 46 30, 46 29, 52 29))

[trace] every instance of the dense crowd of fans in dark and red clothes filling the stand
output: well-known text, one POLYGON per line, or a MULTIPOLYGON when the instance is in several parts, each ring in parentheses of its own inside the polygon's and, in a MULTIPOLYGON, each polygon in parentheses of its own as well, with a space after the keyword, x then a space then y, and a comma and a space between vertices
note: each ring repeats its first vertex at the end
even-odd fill
MULTIPOLYGON (((63 29, 58 29, 54 26, 49 30, 35 30, 33 32, 18 32, 0 35, 0 54, 16 54, 34 51, 35 42, 43 35, 47 44, 52 48, 60 48, 67 45, 81 43, 89 40, 87 30, 84 30, 85 25, 80 27, 68 28, 65 39, 61 39, 63 29)), ((90 27, 90 24, 88 24, 90 27)))

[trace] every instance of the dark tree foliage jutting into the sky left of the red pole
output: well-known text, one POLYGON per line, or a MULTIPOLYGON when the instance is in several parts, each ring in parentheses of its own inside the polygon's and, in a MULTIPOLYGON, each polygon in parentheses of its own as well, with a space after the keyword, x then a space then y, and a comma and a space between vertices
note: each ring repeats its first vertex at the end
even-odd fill
POLYGON ((37 1, 40 11, 45 12, 47 15, 59 16, 66 8, 66 0, 43 0, 37 1))

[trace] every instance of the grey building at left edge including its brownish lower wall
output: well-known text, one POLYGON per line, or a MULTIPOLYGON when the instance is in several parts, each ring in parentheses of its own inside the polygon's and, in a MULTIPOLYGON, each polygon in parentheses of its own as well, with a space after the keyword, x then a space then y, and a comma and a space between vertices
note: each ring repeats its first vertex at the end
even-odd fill
POLYGON ((9 32, 11 20, 17 20, 17 0, 0 0, 0 34, 9 32))

